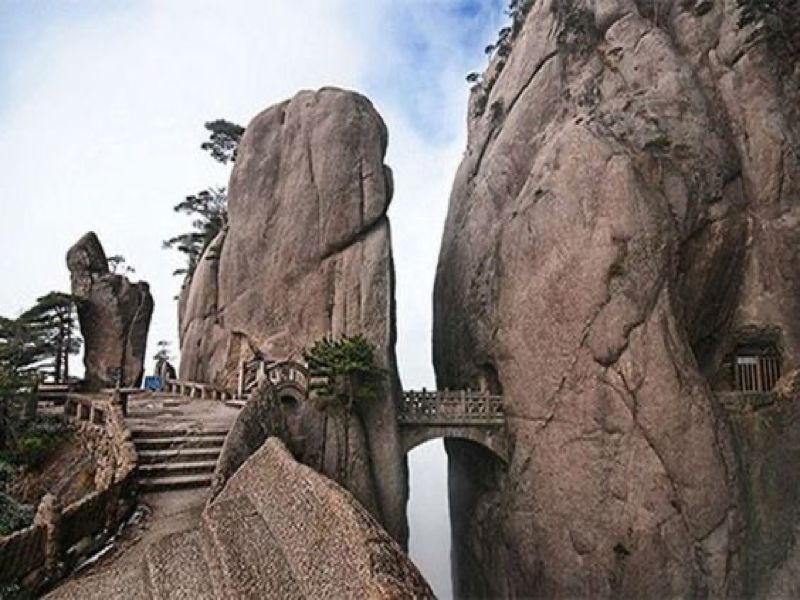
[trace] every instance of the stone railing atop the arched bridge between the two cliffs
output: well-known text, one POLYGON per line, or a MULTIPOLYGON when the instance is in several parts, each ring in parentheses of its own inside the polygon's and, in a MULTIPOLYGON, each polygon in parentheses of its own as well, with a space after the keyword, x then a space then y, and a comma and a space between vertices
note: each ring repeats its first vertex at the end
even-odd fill
POLYGON ((502 425, 503 397, 472 390, 409 390, 398 407, 401 424, 502 425))

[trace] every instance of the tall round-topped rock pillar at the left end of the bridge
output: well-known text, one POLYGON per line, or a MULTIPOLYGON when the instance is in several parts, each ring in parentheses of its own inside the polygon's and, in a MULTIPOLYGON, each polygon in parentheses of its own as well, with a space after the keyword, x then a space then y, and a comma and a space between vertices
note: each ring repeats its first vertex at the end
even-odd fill
MULTIPOLYGON (((255 117, 231 176, 229 226, 182 293, 180 377, 235 388, 256 354, 301 359, 325 335, 363 334, 390 377, 356 424, 350 464, 333 469, 345 477, 326 456, 321 465, 404 543, 386 144, 370 102, 342 90, 301 92, 255 117)), ((336 447, 341 432, 325 433, 322 419, 307 448, 336 447)))

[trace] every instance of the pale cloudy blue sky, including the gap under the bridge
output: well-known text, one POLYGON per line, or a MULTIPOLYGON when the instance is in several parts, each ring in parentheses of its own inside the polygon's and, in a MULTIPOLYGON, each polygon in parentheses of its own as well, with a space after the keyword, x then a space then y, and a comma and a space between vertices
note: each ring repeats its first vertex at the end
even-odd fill
MULTIPOLYGON (((434 387, 431 296, 469 86, 504 0, 0 0, 0 315, 69 288, 67 249, 86 231, 150 283, 149 340, 177 347, 172 206, 224 185, 203 123, 246 124, 299 89, 369 96, 389 129, 389 216, 400 375, 434 387)), ((414 451, 411 554, 450 596, 441 444, 414 451), (416 507, 416 508, 414 508, 416 507)))

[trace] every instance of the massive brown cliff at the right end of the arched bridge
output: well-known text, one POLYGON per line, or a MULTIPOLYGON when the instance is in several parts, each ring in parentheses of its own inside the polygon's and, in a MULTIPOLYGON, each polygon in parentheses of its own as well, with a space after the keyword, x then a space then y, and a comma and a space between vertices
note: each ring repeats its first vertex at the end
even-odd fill
POLYGON ((448 442, 457 594, 735 597, 785 567, 743 500, 779 461, 714 393, 743 345, 800 366, 800 17, 767 4, 520 3, 473 91, 434 361, 502 392, 512 454, 448 442))

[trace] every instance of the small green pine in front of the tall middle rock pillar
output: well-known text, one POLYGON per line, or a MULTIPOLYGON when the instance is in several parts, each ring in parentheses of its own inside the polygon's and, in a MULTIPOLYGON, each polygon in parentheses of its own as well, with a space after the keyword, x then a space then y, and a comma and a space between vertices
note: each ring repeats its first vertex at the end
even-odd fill
POLYGON ((375 363, 375 347, 364 336, 344 336, 340 339, 324 337, 304 353, 312 380, 317 384, 312 391, 322 401, 323 449, 328 434, 327 408, 331 403, 344 408, 344 460, 340 463, 340 479, 346 483, 350 461, 350 417, 359 414, 364 404, 373 401, 379 391, 386 372, 375 363))

